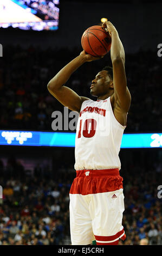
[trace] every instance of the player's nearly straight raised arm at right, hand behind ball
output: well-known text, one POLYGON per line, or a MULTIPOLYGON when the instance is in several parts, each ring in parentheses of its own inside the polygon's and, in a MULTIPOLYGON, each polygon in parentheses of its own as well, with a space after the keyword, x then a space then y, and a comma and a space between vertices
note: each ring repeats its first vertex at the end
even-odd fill
POLYGON ((111 22, 104 22, 102 28, 106 28, 112 36, 111 59, 113 64, 114 100, 118 101, 122 111, 127 113, 131 104, 131 94, 127 88, 124 47, 116 28, 111 22))

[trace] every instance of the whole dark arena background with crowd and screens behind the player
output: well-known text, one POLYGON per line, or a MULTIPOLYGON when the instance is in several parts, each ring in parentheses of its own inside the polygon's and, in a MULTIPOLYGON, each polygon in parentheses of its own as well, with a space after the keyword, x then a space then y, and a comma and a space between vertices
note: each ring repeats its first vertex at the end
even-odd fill
MULTIPOLYGON (((103 17, 124 45, 132 96, 119 154, 127 236, 119 245, 162 245, 161 8, 144 0, 0 1, 0 245, 71 244, 76 130, 47 84, 103 17), (57 131, 55 111, 62 113, 57 131)), ((112 65, 110 52, 82 65, 67 86, 94 99, 89 86, 105 65, 112 65)))

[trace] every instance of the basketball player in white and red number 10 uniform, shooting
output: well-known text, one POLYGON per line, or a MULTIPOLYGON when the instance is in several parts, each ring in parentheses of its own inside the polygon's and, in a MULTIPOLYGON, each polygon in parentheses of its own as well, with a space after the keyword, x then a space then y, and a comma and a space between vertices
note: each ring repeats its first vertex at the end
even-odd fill
POLYGON ((119 151, 127 124, 131 95, 125 74, 125 52, 111 22, 104 22, 112 36, 113 68, 103 68, 92 80, 90 100, 64 86, 85 62, 99 58, 82 51, 48 83, 49 92, 62 105, 79 113, 75 140, 76 178, 70 188, 72 245, 118 245, 126 238, 122 227, 124 194, 119 151))

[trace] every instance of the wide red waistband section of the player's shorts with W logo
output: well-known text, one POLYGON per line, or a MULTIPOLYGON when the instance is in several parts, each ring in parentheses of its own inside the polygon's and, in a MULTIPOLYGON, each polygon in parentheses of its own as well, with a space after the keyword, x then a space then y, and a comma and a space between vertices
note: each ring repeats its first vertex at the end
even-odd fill
POLYGON ((70 194, 96 194, 123 188, 119 169, 77 170, 70 194))

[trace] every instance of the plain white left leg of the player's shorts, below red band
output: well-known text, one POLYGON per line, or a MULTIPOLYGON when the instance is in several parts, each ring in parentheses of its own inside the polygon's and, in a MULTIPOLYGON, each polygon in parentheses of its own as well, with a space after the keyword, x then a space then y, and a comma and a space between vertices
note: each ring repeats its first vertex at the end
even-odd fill
POLYGON ((82 194, 69 194, 69 196, 72 245, 90 245, 93 240, 93 231, 86 196, 82 194))

